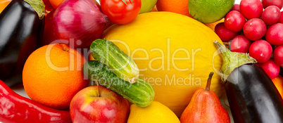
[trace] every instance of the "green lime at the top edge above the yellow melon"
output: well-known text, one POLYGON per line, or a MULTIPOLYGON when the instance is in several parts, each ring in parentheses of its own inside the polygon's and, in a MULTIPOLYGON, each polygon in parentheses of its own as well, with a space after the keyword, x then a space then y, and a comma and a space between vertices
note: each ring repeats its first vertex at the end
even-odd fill
POLYGON ((203 23, 221 20, 234 6, 235 0, 189 0, 189 14, 203 23))

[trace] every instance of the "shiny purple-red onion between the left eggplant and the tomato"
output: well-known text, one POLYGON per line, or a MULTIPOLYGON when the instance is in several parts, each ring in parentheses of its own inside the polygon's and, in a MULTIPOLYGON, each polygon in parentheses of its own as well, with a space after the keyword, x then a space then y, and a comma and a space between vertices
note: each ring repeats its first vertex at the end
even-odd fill
POLYGON ((101 37, 108 17, 93 0, 65 0, 54 11, 53 22, 61 41, 83 48, 101 37))

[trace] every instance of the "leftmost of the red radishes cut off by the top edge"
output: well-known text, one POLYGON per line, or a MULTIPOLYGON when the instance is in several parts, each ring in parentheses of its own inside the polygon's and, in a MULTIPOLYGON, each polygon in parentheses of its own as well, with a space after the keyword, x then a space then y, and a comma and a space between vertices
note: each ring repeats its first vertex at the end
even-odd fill
POLYGON ((260 0, 241 0, 240 10, 247 20, 260 18, 263 12, 263 4, 260 0))

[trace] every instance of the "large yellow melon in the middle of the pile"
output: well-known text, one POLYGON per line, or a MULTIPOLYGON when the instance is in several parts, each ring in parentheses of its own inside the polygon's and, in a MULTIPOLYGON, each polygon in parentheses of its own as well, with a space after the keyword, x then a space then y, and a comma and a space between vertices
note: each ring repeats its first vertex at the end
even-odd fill
MULTIPOLYGON (((210 28, 185 15, 143 13, 127 25, 113 25, 103 38, 112 40, 140 69, 140 77, 153 85, 155 101, 180 117, 194 91, 206 86, 210 72, 222 59, 213 41, 220 38, 210 28)), ((224 86, 215 74, 210 89, 220 96, 224 86)))

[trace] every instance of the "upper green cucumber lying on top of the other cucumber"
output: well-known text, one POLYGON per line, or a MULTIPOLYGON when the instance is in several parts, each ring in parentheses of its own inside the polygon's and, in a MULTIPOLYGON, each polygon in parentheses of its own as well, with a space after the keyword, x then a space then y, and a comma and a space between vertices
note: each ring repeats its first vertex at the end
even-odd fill
POLYGON ((139 78, 139 68, 134 60, 112 41, 96 39, 92 42, 90 51, 95 60, 107 65, 115 75, 126 82, 134 83, 139 78))

